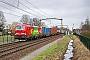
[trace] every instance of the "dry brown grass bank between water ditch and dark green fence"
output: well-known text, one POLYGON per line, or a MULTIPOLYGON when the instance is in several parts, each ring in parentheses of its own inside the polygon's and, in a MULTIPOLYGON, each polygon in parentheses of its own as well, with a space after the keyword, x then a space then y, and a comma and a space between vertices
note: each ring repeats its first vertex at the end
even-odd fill
POLYGON ((78 37, 74 39, 74 56, 72 60, 90 60, 90 51, 83 45, 78 37))

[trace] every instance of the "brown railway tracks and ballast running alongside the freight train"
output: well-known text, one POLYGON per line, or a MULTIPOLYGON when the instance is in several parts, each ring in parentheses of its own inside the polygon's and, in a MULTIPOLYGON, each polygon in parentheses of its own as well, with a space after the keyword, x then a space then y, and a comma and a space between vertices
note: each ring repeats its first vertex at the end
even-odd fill
MULTIPOLYGON (((16 60, 15 56, 19 59, 22 57, 22 55, 24 56, 24 54, 20 53, 21 51, 23 51, 23 53, 25 53, 26 50, 29 51, 33 51, 37 48, 42 47, 45 44, 48 44, 58 38, 60 38, 60 35, 56 35, 56 36, 51 36, 51 37, 47 37, 47 38, 42 38, 42 39, 38 39, 38 40, 31 40, 28 42, 17 42, 17 43, 12 43, 12 44, 7 44, 7 45, 2 45, 0 46, 0 60, 16 60), (17 56, 20 53, 21 56, 17 56)), ((27 53, 25 53, 26 55, 27 53)))

